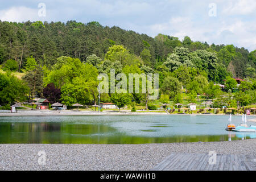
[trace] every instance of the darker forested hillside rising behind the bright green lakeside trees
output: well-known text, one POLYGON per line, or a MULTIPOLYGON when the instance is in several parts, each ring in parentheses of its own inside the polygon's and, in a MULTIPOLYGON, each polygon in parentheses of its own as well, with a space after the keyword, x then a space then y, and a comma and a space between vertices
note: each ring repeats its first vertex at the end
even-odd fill
MULTIPOLYGON (((85 61, 86 57, 95 54, 104 59, 108 48, 114 44, 123 45, 130 53, 141 56, 144 64, 151 68, 164 63, 167 57, 174 53, 175 47, 187 48, 185 52, 191 54, 198 50, 216 53, 216 62, 224 64, 233 77, 248 76, 252 68, 255 69, 256 64, 256 51, 249 52, 247 49, 233 45, 193 42, 189 37, 179 40, 159 34, 151 38, 119 27, 103 27, 98 22, 84 24, 75 21, 67 23, 0 21, 0 64, 13 59, 17 61, 19 70, 26 65, 26 59, 30 56, 33 56, 38 64, 47 67, 55 64, 56 58, 60 56, 76 57, 85 61), (150 56, 148 57, 147 54, 150 56)), ((188 61, 193 62, 194 58, 189 57, 188 61)))

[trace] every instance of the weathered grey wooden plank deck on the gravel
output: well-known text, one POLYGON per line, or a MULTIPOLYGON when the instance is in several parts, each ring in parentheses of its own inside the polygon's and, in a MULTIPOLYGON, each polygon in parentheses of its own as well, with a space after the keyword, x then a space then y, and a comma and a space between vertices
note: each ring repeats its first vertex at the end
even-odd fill
POLYGON ((171 154, 151 171, 256 171, 256 155, 217 154, 209 164, 208 154, 171 154))

